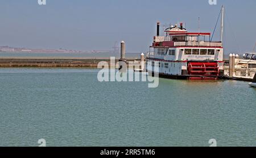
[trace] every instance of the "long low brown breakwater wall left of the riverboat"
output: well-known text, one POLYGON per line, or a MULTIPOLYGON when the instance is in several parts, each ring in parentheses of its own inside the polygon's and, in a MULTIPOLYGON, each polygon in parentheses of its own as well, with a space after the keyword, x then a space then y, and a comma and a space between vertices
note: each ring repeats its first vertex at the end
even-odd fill
MULTIPOLYGON (((0 57, 0 67, 87 67, 97 68, 98 63, 106 61, 110 66, 110 57, 0 57)), ((115 59, 117 63, 119 59, 115 59)), ((141 61, 141 59, 126 59, 141 61)))

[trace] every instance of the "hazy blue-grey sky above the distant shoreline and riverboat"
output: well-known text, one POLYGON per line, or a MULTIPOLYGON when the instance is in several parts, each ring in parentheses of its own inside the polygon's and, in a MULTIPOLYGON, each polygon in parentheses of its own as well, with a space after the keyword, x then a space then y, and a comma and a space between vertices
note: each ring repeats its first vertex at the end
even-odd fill
MULTIPOLYGON (((148 51, 156 22, 186 23, 187 30, 212 32, 226 7, 225 53, 251 51, 256 42, 256 1, 217 0, 38 0, 0 1, 0 45, 28 48, 148 51)), ((214 40, 220 37, 220 24, 214 40)))

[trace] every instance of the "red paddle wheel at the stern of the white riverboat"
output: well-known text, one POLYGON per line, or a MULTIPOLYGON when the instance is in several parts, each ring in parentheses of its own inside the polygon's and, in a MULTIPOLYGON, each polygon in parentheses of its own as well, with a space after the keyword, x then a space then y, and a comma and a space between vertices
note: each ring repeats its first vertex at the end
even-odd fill
POLYGON ((219 73, 217 63, 188 63, 190 80, 216 80, 219 73))

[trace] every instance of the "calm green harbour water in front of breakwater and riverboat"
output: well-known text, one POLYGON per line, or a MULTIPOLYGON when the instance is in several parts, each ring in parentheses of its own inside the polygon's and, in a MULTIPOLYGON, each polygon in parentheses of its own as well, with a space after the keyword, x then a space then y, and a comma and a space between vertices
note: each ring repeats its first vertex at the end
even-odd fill
POLYGON ((241 81, 98 82, 97 69, 0 69, 0 146, 256 146, 241 81))

